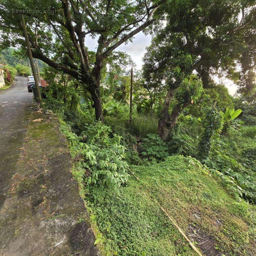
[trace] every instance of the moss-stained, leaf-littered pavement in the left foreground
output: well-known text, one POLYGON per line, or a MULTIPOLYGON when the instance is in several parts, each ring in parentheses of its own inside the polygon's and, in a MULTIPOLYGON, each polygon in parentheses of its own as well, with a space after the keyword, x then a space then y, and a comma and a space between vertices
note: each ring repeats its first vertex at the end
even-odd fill
POLYGON ((0 134, 0 255, 98 255, 58 120, 27 110, 0 134))

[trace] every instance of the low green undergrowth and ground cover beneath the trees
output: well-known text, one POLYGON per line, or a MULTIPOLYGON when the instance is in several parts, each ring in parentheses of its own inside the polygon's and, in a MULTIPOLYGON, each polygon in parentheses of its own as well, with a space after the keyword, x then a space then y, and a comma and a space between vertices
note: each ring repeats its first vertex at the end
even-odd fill
POLYGON ((105 124, 95 122, 92 101, 82 91, 74 94, 72 80, 51 68, 44 74, 51 79, 47 83, 54 81, 45 108, 61 120, 75 163, 73 175, 103 255, 192 255, 158 203, 202 252, 207 250, 196 236, 210 236, 223 255, 253 255, 256 127, 244 120, 253 119, 255 105, 227 95, 231 107, 220 108, 223 102, 217 100, 212 110, 209 99, 215 97, 204 91, 199 99, 204 107, 185 108, 163 141, 156 110, 152 115, 146 108, 138 112, 140 103, 134 104, 129 124, 128 104, 113 97, 115 89, 106 89, 105 124), (234 106, 250 117, 243 111, 237 115, 234 106))

